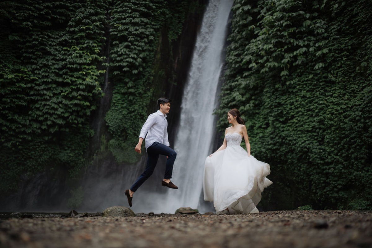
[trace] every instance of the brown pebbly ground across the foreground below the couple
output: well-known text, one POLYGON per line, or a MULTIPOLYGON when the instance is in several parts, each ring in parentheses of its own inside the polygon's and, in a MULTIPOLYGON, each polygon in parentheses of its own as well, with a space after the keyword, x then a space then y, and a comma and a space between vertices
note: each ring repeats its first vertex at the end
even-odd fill
POLYGON ((1 247, 372 247, 371 211, 25 217, 0 221, 1 247))

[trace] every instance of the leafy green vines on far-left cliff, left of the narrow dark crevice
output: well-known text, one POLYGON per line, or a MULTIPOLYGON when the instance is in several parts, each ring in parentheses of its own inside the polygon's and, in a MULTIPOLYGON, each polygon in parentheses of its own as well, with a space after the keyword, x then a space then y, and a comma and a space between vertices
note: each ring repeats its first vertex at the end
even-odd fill
POLYGON ((15 189, 21 173, 47 164, 76 177, 102 95, 106 11, 77 1, 2 5, 0 189, 15 189))

